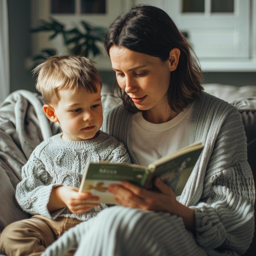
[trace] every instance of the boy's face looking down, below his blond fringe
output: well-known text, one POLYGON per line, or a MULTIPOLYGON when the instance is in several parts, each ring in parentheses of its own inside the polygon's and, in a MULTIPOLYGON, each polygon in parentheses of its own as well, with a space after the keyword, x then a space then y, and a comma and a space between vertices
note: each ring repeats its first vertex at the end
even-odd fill
POLYGON ((85 89, 60 90, 60 101, 54 108, 55 116, 63 130, 62 139, 83 141, 92 139, 102 126, 103 113, 101 103, 101 88, 97 93, 85 89))

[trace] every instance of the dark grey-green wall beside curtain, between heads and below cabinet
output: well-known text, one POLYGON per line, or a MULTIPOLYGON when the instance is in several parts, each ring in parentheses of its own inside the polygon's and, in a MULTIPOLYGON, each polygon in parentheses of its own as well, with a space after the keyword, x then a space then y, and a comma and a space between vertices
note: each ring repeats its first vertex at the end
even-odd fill
MULTIPOLYGON (((31 70, 25 67, 26 60, 31 57, 30 6, 30 0, 8 0, 11 92, 18 89, 35 91, 31 70)), ((103 83, 114 83, 114 72, 101 71, 100 74, 103 83)), ((256 85, 256 72, 207 72, 204 83, 256 85)))

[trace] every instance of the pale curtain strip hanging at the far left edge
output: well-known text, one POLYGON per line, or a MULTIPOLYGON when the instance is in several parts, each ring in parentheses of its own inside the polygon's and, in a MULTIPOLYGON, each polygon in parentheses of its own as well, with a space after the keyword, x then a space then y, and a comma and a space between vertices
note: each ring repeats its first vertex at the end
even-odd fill
POLYGON ((7 0, 0 0, 0 102, 10 93, 7 0))

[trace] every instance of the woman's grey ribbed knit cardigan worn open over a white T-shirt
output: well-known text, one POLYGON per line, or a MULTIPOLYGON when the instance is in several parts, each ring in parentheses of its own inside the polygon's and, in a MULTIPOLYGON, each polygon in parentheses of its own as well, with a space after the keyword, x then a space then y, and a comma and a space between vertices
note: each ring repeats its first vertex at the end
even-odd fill
MULTIPOLYGON (((112 108, 102 129, 122 141, 137 164, 129 140, 132 115, 123 106, 112 108)), ((201 140, 205 146, 177 200, 195 210, 196 241, 207 254, 243 254, 254 234, 255 199, 240 114, 229 103, 202 92, 189 129, 189 144, 201 140)))

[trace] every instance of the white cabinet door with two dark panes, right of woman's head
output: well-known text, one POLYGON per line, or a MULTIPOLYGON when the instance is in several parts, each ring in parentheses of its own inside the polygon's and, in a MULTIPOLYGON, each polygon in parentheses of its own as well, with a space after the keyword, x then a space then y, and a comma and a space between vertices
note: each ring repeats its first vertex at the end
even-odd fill
POLYGON ((200 60, 249 58, 250 0, 173 0, 169 10, 200 60))

